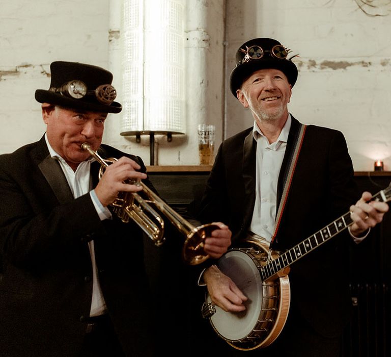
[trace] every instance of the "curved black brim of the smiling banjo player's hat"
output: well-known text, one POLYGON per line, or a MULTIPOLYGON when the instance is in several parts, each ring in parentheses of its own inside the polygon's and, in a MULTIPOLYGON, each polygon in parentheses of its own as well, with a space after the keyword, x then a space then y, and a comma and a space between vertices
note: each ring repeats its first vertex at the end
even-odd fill
POLYGON ((265 68, 274 68, 281 70, 288 79, 288 82, 293 87, 297 80, 297 67, 290 60, 266 60, 252 61, 243 63, 235 67, 230 75, 230 89, 236 98, 236 91, 242 86, 243 82, 250 77, 255 71, 265 68))

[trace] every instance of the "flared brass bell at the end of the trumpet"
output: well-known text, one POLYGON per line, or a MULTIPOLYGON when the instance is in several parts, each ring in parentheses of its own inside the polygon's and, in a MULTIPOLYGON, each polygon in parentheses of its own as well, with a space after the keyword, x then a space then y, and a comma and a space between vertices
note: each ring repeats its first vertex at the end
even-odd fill
POLYGON ((219 229, 216 224, 209 223, 193 228, 187 235, 182 248, 182 258, 189 265, 198 265, 209 259, 204 250, 207 237, 211 237, 214 230, 219 229))

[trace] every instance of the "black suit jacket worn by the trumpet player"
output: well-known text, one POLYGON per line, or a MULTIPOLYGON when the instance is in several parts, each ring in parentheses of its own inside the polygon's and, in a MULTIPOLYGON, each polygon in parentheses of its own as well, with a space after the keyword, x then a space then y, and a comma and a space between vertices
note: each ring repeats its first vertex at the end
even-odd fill
MULTIPOLYGON (((105 157, 125 155, 106 145, 101 149, 105 157)), ((146 170, 140 158, 129 157, 146 170)), ((92 164, 93 187, 98 168, 92 164)), ((101 221, 90 194, 74 199, 44 138, 0 156, 0 197, 0 354, 76 355, 91 307, 92 239, 103 295, 125 352, 152 354, 138 226, 116 215, 101 221)))

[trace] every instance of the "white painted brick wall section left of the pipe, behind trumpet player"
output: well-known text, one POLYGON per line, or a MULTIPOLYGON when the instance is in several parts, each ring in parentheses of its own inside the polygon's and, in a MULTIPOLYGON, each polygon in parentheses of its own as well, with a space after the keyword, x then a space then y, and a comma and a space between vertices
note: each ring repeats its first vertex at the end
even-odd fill
POLYGON ((0 153, 44 133, 36 89, 55 60, 107 67, 108 0, 0 1, 0 153))

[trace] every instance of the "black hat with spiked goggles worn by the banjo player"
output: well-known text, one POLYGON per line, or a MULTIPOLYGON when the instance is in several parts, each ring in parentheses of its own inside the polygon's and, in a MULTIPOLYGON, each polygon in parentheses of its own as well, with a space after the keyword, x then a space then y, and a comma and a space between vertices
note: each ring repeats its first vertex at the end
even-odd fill
POLYGON ((275 68, 287 76, 293 87, 297 80, 297 67, 287 59, 289 50, 272 38, 254 38, 243 43, 236 53, 236 67, 230 75, 230 88, 236 98, 236 90, 243 81, 258 69, 275 68))

